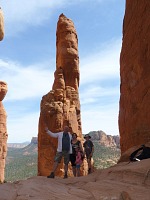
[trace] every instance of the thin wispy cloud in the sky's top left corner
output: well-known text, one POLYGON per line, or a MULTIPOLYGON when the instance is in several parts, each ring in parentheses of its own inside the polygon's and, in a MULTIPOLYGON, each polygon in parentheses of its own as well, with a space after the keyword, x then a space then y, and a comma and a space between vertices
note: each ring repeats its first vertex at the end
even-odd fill
MULTIPOLYGON (((93 3, 93 0, 91 1, 93 3)), ((94 3, 99 4, 105 1, 96 0, 94 3)), ((45 20, 50 21, 51 16, 59 8, 88 2, 89 0, 1 0, 5 18, 5 37, 22 32, 30 26, 42 25, 45 20)))

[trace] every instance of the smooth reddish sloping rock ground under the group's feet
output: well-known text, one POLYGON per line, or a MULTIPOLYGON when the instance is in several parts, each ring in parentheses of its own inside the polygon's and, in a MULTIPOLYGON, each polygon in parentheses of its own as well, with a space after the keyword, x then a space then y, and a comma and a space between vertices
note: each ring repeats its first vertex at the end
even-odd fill
POLYGON ((27 180, 0 185, 0 200, 149 200, 150 159, 123 162, 85 177, 27 180))

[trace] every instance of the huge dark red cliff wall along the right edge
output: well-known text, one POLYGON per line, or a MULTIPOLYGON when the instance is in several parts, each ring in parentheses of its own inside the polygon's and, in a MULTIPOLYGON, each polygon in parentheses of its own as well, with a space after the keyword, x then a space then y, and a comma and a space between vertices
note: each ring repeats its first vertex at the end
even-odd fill
POLYGON ((121 152, 150 141, 150 1, 126 1, 120 56, 121 152))

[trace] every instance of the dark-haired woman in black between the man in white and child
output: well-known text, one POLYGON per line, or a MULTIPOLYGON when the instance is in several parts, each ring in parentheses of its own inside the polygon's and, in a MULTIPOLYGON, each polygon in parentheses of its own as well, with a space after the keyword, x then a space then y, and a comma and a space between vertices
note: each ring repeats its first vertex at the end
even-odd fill
POLYGON ((76 176, 76 148, 79 147, 80 151, 83 152, 81 142, 79 140, 77 140, 76 133, 72 134, 71 145, 72 145, 72 154, 70 154, 70 162, 72 165, 73 175, 76 176))

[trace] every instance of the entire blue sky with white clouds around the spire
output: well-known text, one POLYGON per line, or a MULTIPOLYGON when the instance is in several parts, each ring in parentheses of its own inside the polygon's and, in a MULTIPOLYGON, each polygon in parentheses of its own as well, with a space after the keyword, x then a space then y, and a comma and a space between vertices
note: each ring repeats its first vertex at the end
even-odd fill
POLYGON ((56 26, 64 13, 75 25, 80 59, 83 133, 118 135, 119 56, 125 0, 1 0, 5 38, 0 42, 0 80, 8 142, 38 134, 40 101, 56 68, 56 26))

